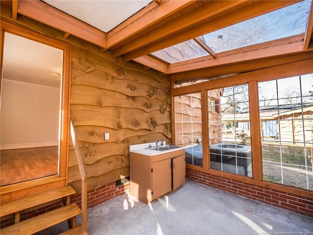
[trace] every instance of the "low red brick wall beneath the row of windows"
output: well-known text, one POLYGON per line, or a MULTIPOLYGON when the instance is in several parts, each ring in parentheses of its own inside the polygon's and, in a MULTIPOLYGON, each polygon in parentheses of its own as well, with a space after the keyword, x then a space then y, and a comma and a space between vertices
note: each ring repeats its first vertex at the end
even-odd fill
POLYGON ((238 180, 232 180, 188 168, 186 169, 186 177, 191 181, 209 187, 223 189, 275 207, 313 217, 312 198, 247 184, 238 180))

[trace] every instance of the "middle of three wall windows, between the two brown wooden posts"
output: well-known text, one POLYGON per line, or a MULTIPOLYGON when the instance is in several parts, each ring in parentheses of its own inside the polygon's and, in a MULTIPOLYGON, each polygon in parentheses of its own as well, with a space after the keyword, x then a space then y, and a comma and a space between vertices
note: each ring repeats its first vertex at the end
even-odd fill
POLYGON ((241 85, 207 92, 211 169, 252 176, 248 86, 241 85))

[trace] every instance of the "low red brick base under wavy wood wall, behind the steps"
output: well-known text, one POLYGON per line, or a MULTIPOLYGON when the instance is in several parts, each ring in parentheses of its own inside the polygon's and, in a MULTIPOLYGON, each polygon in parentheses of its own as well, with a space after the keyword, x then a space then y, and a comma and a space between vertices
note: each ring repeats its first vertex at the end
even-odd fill
MULTIPOLYGON (((92 208, 103 202, 109 201, 110 199, 124 194, 129 191, 129 183, 115 187, 115 182, 111 184, 104 185, 95 190, 90 190, 87 192, 87 207, 92 208)), ((71 197, 70 203, 76 203, 79 208, 82 206, 82 195, 78 194, 71 197)), ((38 208, 31 211, 22 211, 20 220, 29 219, 39 214, 43 214, 48 211, 62 207, 62 200, 59 200, 55 203, 49 204, 45 207, 38 208)), ((14 215, 4 216, 1 218, 0 228, 4 228, 14 224, 14 215)))

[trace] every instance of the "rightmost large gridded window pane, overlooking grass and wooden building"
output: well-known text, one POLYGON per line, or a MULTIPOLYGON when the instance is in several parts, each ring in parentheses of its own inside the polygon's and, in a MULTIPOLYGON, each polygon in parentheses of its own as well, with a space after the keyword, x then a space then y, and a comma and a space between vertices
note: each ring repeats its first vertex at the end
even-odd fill
POLYGON ((313 74, 259 83, 263 180, 313 190, 313 74))

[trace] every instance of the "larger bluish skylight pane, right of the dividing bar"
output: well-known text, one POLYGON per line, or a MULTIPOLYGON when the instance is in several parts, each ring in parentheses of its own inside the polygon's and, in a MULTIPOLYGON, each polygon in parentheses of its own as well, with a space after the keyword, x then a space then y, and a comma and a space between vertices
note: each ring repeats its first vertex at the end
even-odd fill
POLYGON ((286 38, 305 32, 311 0, 230 25, 203 35, 216 53, 286 38))

